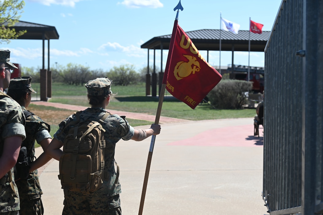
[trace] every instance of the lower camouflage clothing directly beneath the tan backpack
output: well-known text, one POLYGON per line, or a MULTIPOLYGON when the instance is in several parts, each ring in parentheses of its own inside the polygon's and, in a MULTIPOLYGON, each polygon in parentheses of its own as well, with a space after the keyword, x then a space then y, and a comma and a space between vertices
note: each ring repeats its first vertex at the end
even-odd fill
POLYGON ((62 215, 121 215, 120 197, 107 196, 100 189, 93 194, 64 191, 62 215))

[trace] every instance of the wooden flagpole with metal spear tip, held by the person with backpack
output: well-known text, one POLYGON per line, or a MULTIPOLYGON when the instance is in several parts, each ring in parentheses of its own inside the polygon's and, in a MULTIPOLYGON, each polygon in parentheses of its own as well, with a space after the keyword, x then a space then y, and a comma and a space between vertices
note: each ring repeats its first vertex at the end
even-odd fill
MULTIPOLYGON (((178 14, 179 14, 179 10, 183 10, 183 9, 184 8, 182 7, 181 0, 180 0, 178 5, 174 8, 174 11, 177 10, 177 14, 176 14, 174 27, 173 27, 173 31, 172 31, 171 42, 170 42, 170 45, 169 45, 168 57, 167 57, 167 62, 166 62, 166 66, 165 66, 165 73, 164 73, 163 81, 162 81, 162 84, 161 84, 161 93, 159 95, 159 102, 158 102, 158 107, 157 107, 155 124, 159 124, 159 118, 160 118, 160 114, 161 114, 161 107, 162 107, 162 102, 164 100, 164 94, 165 94, 165 89, 166 89, 166 80, 167 80, 168 72, 170 70, 170 59, 172 59, 174 43, 175 43, 175 38, 176 38, 176 32, 177 32, 177 26, 178 26, 177 25, 178 24, 178 14)), ((154 150, 155 139, 156 139, 156 135, 152 135, 151 142, 150 142, 149 153, 148 153, 146 172, 145 172, 145 177, 144 177, 143 186, 142 186, 141 200, 140 200, 140 206, 139 206, 138 215, 142 215, 142 211, 143 211, 143 204, 144 204, 145 196, 146 196, 146 189, 147 189, 149 170, 150 170, 150 165, 151 165, 152 152, 154 150)))

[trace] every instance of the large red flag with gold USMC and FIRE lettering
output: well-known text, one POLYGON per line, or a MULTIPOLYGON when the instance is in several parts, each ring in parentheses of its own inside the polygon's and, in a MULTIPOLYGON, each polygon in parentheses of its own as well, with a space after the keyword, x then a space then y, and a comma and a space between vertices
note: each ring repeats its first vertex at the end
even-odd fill
POLYGON ((162 82, 166 84, 167 91, 194 109, 221 78, 220 73, 201 56, 176 19, 162 82))

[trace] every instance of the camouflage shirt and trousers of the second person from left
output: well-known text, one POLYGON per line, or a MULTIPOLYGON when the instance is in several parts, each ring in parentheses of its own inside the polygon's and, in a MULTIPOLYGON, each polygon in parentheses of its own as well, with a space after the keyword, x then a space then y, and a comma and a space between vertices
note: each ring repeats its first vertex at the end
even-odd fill
MULTIPOLYGON (((26 111, 26 108, 22 106, 26 111)), ((30 115, 26 118, 26 139, 21 146, 26 146, 29 162, 34 161, 35 156, 35 140, 40 143, 44 139, 52 138, 49 134, 50 125, 46 124, 40 117, 30 115)), ((31 172, 27 179, 19 179, 16 181, 19 196, 20 210, 19 215, 40 215, 44 214, 41 195, 43 191, 40 188, 37 169, 31 172)))

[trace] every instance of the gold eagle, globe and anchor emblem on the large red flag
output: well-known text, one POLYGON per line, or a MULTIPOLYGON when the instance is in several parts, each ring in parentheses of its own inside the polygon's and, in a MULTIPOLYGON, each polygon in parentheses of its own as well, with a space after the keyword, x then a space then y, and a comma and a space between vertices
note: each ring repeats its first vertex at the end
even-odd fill
POLYGON ((195 57, 191 55, 183 55, 188 59, 188 62, 180 61, 176 64, 174 69, 174 76, 177 80, 181 80, 189 76, 191 73, 195 73, 201 70, 200 63, 195 57), (192 67, 193 66, 193 67, 192 67))

